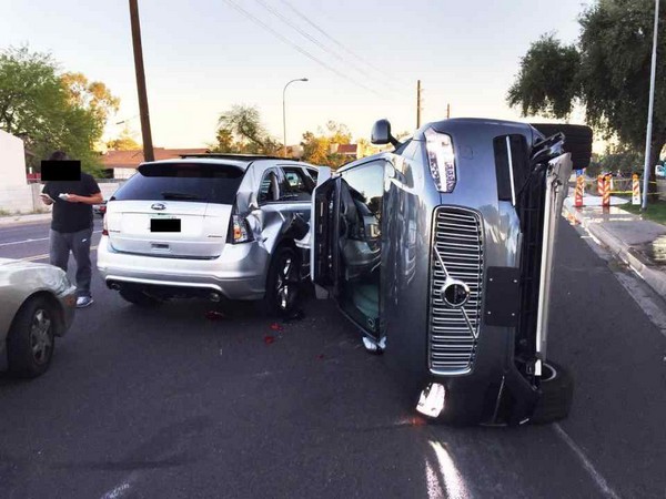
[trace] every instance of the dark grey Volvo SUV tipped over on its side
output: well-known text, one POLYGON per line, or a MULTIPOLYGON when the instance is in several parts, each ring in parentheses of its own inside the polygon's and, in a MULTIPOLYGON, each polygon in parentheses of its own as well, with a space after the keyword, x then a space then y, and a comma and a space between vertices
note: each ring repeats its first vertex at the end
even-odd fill
POLYGON ((382 120, 372 139, 395 151, 347 164, 313 195, 317 296, 333 297, 365 347, 401 369, 428 417, 565 417, 572 378, 546 356, 553 245, 572 171, 564 135, 454 119, 400 143, 382 120))

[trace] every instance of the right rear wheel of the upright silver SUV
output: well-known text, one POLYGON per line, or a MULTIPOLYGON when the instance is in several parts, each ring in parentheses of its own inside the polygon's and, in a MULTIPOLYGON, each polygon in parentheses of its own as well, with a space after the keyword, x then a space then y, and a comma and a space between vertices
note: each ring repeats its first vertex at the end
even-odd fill
POLYGON ((286 315, 299 297, 299 257, 287 246, 281 246, 271 259, 266 279, 266 306, 270 312, 286 315))

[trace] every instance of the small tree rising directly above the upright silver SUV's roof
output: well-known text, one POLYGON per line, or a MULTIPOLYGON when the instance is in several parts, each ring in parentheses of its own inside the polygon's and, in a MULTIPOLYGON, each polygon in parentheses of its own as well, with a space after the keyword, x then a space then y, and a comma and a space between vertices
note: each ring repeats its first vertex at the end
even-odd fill
POLYGON ((213 152, 276 155, 282 147, 269 135, 255 106, 234 105, 218 121, 213 152))

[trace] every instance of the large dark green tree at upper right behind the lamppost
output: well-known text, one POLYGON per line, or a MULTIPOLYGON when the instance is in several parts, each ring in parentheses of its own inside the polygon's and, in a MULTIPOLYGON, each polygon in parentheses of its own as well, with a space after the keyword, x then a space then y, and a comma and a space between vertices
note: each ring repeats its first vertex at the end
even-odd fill
MULTIPOLYGON (((632 151, 645 146, 653 43, 653 0, 599 0, 579 18, 581 38, 564 45, 552 34, 521 60, 507 102, 523 115, 566 119, 576 103, 586 121, 632 151)), ((659 12, 657 82, 666 77, 666 9, 659 12)), ((656 85, 649 164, 666 144, 666 86, 656 85)), ((650 169, 650 180, 654 171, 650 169)), ((650 184, 654 190, 655 184, 650 184)), ((654 191, 653 191, 654 192, 654 191)))

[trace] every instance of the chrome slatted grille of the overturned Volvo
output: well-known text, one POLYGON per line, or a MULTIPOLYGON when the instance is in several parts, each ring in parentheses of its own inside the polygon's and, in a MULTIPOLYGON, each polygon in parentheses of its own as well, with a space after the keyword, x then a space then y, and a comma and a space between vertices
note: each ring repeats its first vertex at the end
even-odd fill
POLYGON ((428 361, 434 374, 465 374, 472 369, 481 324, 482 234, 481 217, 475 212, 450 206, 435 210, 428 319, 428 361), (446 306, 440 296, 446 274, 437 252, 450 276, 470 287, 470 299, 464 308, 472 328, 462 309, 446 306))

